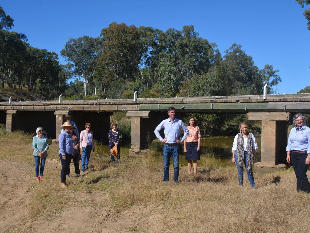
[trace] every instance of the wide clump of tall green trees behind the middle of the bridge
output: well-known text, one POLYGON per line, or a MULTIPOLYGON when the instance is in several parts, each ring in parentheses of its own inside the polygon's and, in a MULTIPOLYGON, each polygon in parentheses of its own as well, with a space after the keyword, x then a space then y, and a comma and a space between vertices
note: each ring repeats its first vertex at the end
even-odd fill
POLYGON ((77 79, 68 93, 98 98, 132 98, 136 90, 140 98, 262 94, 265 84, 272 94, 281 82, 279 70, 269 64, 259 69, 240 44, 222 56, 193 25, 163 32, 111 23, 97 38, 69 39, 61 55, 77 79))

